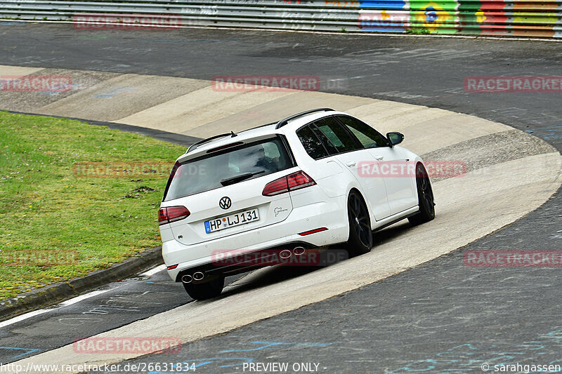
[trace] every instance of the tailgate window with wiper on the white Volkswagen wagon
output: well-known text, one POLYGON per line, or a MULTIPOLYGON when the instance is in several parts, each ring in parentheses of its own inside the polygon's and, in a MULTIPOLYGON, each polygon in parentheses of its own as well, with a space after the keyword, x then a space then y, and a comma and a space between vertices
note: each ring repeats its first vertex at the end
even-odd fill
POLYGON ((164 201, 224 187, 221 181, 230 180, 228 185, 232 185, 292 166, 287 147, 278 137, 225 149, 176 164, 166 187, 164 201), (252 176, 236 180, 247 174, 252 176))

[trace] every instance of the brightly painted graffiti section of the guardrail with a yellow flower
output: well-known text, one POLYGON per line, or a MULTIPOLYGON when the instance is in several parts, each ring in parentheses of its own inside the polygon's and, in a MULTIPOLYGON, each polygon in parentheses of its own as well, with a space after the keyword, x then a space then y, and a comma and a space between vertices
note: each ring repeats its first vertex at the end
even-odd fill
POLYGON ((360 1, 363 31, 562 37, 562 0, 360 1))

